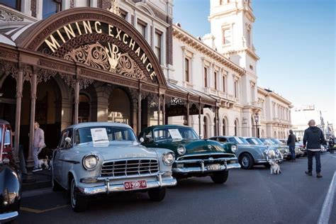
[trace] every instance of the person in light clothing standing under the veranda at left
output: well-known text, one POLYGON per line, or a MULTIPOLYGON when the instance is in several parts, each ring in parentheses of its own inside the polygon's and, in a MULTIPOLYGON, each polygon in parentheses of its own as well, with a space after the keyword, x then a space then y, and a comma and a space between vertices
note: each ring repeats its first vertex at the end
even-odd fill
POLYGON ((34 142, 33 142, 33 158, 34 158, 34 169, 33 172, 42 170, 38 165, 38 154, 45 147, 45 133, 40 128, 40 124, 35 121, 34 123, 34 142))

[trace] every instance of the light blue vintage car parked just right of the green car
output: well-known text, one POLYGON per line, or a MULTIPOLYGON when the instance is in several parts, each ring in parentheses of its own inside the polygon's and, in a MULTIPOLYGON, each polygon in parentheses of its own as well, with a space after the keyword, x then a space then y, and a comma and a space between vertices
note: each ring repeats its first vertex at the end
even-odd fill
POLYGON ((215 136, 209 138, 221 143, 231 142, 237 145, 236 157, 242 166, 242 169, 252 169, 254 165, 263 164, 265 167, 269 167, 269 159, 274 159, 278 162, 282 162, 281 153, 279 150, 269 150, 264 145, 250 145, 245 138, 236 136, 215 136))

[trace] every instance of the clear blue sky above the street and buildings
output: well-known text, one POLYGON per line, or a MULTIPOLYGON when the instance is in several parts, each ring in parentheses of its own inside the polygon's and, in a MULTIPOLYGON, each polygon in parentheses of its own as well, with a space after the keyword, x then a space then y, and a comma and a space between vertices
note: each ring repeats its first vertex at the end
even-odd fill
MULTIPOLYGON (((173 23, 196 37, 210 33, 210 0, 173 4, 173 23)), ((252 9, 252 39, 260 57, 258 86, 284 96, 293 106, 315 105, 325 123, 335 128, 336 1, 253 0, 252 9)))

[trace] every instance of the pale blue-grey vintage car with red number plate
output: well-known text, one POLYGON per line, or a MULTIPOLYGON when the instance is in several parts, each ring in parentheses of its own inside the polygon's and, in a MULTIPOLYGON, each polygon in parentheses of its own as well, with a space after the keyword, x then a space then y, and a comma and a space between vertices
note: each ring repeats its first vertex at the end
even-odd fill
POLYGON ((132 128, 121 123, 79 123, 62 131, 52 157, 52 189, 67 189, 74 211, 89 196, 147 191, 162 201, 172 177, 174 152, 140 145, 132 128))

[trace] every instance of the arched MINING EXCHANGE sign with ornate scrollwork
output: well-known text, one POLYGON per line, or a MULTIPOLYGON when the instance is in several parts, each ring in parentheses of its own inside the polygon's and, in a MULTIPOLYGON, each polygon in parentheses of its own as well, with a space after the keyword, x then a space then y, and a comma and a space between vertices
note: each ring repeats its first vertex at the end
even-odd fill
MULTIPOLYGON (((127 69, 132 70, 136 67, 140 69, 143 66, 148 72, 150 80, 157 76, 146 52, 128 33, 125 33, 121 28, 101 21, 68 23, 50 34, 40 45, 40 51, 55 56, 62 53, 61 56, 67 60, 108 69, 109 72, 118 72, 118 65, 121 63, 128 65, 127 69), (77 43, 77 45, 65 53, 69 43, 72 45, 77 43), (78 43, 82 44, 78 45, 78 43), (135 64, 138 66, 134 66, 135 64)), ((145 77, 145 74, 140 73, 138 72, 137 78, 145 77)))

